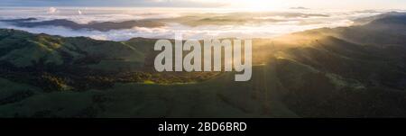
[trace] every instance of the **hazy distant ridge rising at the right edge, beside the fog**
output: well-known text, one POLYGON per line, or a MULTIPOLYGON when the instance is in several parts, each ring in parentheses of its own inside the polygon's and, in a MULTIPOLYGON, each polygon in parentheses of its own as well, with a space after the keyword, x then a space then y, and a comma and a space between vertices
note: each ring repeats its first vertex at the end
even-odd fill
POLYGON ((321 28, 298 33, 334 36, 359 44, 387 46, 406 44, 406 14, 388 13, 367 17, 365 24, 338 28, 321 28))

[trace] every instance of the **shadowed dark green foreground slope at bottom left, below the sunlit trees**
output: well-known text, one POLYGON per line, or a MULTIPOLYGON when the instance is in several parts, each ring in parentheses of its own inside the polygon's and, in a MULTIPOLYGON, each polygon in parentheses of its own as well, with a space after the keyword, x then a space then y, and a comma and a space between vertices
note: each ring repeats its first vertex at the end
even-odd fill
POLYGON ((295 117, 273 89, 277 87, 272 82, 274 71, 265 68, 255 67, 253 80, 246 83, 235 83, 234 74, 226 73, 197 84, 130 83, 103 91, 34 95, 0 106, 0 113, 6 117, 16 113, 37 117, 295 117))

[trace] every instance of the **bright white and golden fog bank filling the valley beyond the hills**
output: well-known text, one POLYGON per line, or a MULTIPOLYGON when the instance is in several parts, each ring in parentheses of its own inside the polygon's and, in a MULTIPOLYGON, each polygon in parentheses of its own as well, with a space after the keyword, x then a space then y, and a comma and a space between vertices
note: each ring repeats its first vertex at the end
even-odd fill
POLYGON ((382 14, 387 11, 313 11, 286 10, 266 13, 210 11, 198 9, 167 8, 4 8, 0 19, 37 18, 35 22, 66 19, 76 23, 124 22, 148 20, 165 23, 165 26, 100 32, 72 30, 63 26, 19 27, 0 23, 0 28, 19 29, 34 33, 61 36, 87 36, 97 40, 126 41, 134 37, 173 38, 181 32, 188 39, 203 38, 272 38, 290 32, 300 32, 321 27, 352 25, 358 18, 382 14))

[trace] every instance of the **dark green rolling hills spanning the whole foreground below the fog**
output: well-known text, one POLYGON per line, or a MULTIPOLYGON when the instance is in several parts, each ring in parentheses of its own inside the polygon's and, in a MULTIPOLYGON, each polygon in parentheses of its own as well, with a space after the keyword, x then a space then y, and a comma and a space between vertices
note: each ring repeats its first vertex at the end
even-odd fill
POLYGON ((0 116, 405 117, 406 14, 359 22, 254 39, 248 82, 227 72, 157 73, 154 39, 2 29, 0 116))

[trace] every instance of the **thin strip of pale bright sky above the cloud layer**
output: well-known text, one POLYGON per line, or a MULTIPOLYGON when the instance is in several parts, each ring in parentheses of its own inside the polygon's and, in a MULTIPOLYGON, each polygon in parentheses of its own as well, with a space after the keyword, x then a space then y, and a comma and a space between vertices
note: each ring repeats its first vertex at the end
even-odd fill
POLYGON ((306 7, 366 10, 406 9, 406 0, 2 0, 0 6, 212 7, 257 10, 306 7))

